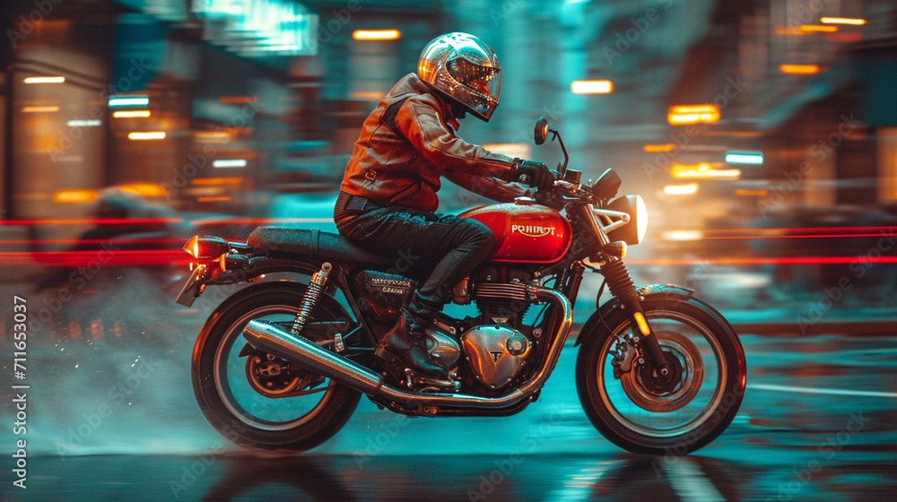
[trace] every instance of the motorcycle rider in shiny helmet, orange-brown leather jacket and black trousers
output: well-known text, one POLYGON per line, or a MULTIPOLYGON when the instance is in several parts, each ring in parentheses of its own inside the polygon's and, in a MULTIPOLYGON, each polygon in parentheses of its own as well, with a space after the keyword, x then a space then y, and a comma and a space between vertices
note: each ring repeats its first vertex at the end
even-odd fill
POLYGON ((525 195, 514 181, 545 186, 554 179, 542 163, 457 136, 457 119, 466 113, 489 121, 500 91, 498 58, 482 40, 459 32, 432 39, 416 74, 397 82, 365 120, 340 185, 340 234, 384 255, 441 257, 374 352, 424 376, 448 377, 426 349, 424 327, 494 244, 479 221, 435 213, 440 177, 498 202, 525 195))

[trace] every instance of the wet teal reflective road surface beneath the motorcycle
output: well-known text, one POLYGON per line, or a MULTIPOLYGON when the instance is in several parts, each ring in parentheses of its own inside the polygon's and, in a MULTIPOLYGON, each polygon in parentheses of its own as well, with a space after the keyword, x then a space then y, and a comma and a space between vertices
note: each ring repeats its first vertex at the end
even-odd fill
POLYGON ((53 378, 35 385, 29 488, 4 493, 91 500, 892 497, 893 338, 744 333, 742 340, 751 370, 744 405, 727 432, 685 458, 627 454, 600 437, 576 401, 571 346, 540 401, 514 417, 408 420, 362 402, 324 446, 278 457, 233 448, 205 424, 190 394, 186 348, 154 347, 116 368, 109 353, 124 358, 133 347, 104 346, 94 366, 87 356, 98 347, 83 345, 52 355, 53 378), (86 371, 67 364, 75 359, 86 371), (141 365, 145 377, 136 376, 141 365), (49 390, 69 378, 80 385, 77 398, 49 390), (93 427, 92 410, 104 402, 111 413, 93 427))

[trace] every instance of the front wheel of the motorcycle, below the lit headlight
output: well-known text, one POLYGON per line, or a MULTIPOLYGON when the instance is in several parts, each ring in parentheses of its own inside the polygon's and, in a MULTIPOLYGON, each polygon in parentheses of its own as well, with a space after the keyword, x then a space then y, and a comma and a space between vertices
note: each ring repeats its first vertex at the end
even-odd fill
POLYGON ((590 323, 576 383, 588 420, 611 442, 642 454, 682 455, 706 446, 735 418, 745 395, 745 351, 732 326, 690 296, 641 302, 668 360, 672 382, 658 385, 632 340, 628 311, 590 323), (622 367, 622 369, 621 369, 622 367), (619 376, 619 377, 618 377, 619 376))

